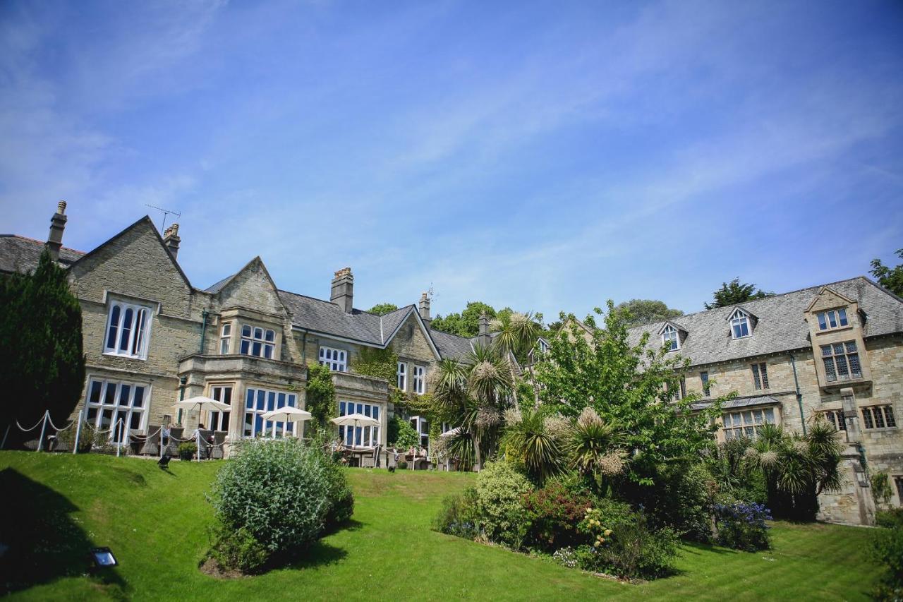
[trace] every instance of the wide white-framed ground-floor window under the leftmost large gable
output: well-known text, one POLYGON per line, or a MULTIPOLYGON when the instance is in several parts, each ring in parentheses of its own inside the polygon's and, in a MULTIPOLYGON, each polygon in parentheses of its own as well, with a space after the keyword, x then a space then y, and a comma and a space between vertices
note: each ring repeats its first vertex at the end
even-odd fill
POLYGON ((147 410, 150 405, 149 382, 119 381, 89 376, 86 407, 82 419, 94 428, 102 430, 108 428, 110 432, 107 438, 116 443, 119 438, 119 429, 116 427, 118 420, 123 419, 124 434, 132 430, 144 430, 147 428, 147 410), (141 390, 140 398, 137 395, 138 390, 141 390))

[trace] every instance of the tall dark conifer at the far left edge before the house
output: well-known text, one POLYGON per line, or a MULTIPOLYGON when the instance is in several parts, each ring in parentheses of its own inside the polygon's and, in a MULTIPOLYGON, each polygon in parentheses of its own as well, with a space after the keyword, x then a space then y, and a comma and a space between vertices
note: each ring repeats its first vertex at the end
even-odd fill
POLYGON ((72 295, 66 270, 45 250, 32 274, 0 277, 0 387, 3 415, 12 424, 11 440, 36 433, 31 427, 50 410, 61 426, 79 403, 85 382, 81 348, 81 306, 72 295))

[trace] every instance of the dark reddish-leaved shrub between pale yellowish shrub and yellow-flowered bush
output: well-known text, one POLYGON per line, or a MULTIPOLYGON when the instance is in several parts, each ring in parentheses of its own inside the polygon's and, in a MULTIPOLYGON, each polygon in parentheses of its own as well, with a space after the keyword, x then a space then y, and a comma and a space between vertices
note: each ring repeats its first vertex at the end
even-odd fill
POLYGON ((573 494, 560 481, 550 481, 542 489, 524 496, 530 522, 526 545, 539 550, 556 550, 588 541, 577 531, 577 523, 587 508, 595 504, 590 494, 573 494))

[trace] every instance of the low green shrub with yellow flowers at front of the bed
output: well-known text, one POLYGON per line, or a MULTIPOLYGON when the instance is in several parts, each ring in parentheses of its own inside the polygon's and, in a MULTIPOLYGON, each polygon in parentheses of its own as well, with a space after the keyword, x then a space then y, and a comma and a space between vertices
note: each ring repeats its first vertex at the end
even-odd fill
POLYGON ((581 569, 623 578, 656 578, 673 570, 677 534, 668 527, 653 529, 643 513, 624 503, 602 501, 584 514, 578 529, 592 545, 575 550, 581 569))

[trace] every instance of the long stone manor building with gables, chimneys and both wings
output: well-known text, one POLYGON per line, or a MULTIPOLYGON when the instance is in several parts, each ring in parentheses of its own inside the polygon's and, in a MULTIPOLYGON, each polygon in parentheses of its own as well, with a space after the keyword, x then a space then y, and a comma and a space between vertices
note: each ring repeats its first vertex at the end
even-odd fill
MULTIPOLYGON (((464 358, 489 341, 487 320, 474 339, 430 327, 430 301, 374 315, 354 307, 354 276, 335 272, 329 299, 279 289, 260 258, 208 288, 191 284, 178 263, 179 227, 163 236, 148 217, 97 249, 62 246, 65 202, 51 217, 46 242, 0 236, 0 274, 32 270, 42 250, 69 272, 83 315, 87 378, 79 413, 98 428, 122 419, 135 433, 152 425, 199 419, 231 440, 289 429, 260 415, 285 405, 303 408, 314 362, 329 366, 340 414, 359 412, 374 428, 340 431, 348 443, 386 445, 394 408, 389 384, 358 374, 362 350, 391 348, 396 382, 412 395, 429 392, 442 358, 464 358), (198 416, 173 403, 207 396, 231 406, 198 416), (87 405, 86 405, 87 404, 87 405)), ((325 283, 324 283, 325 289, 325 283)), ((721 439, 756 437, 757 426, 804 432, 822 415, 844 445, 846 485, 824 494, 822 516, 870 523, 867 475, 890 475, 893 503, 903 502, 903 300, 869 278, 854 277, 783 295, 682 315, 631 331, 690 358, 683 392, 706 397, 737 391, 721 439)), ((544 342, 540 342, 542 345, 544 342)), ((427 443, 428 425, 408 417, 427 443)))

